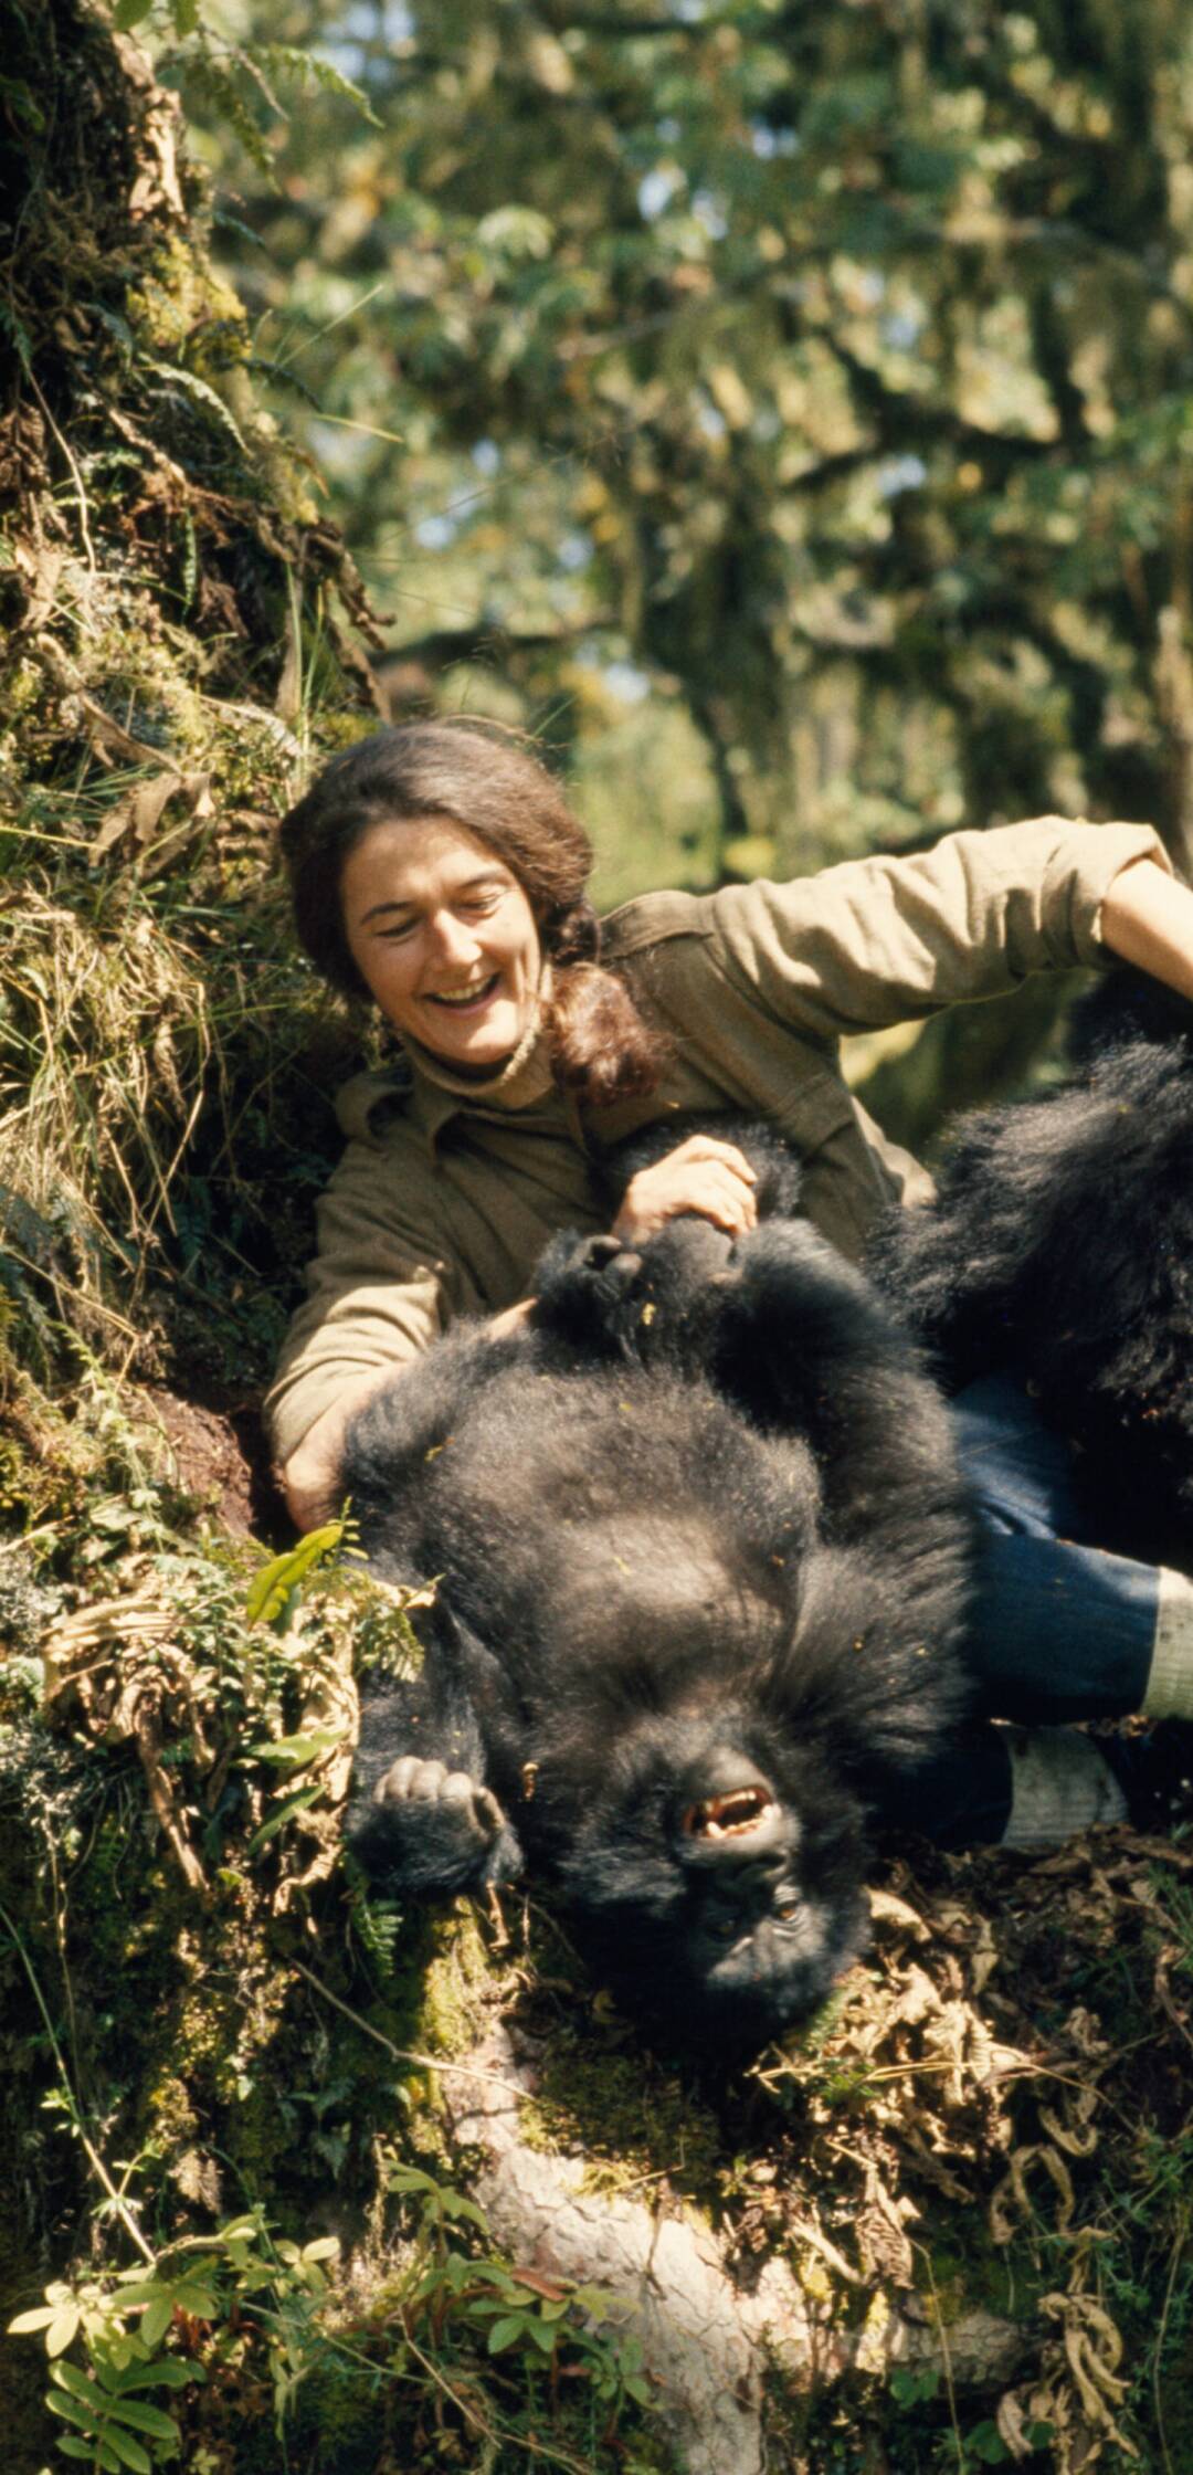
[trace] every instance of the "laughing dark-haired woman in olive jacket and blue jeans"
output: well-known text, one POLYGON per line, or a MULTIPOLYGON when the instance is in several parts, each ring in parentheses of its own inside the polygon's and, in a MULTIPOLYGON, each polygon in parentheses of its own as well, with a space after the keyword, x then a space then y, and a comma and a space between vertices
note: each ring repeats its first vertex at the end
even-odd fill
MULTIPOLYGON (((282 849, 309 955, 332 985, 371 995, 401 1037, 401 1062, 342 1096, 349 1148, 270 1396, 299 1527, 334 1502, 347 1418, 379 1381, 460 1312, 488 1312, 495 1329, 527 1312, 552 1230, 604 1225, 594 1166, 641 1124, 681 1109, 770 1119, 804 1161, 809 1218, 856 1257, 879 1205, 913 1200, 923 1173, 851 1099, 844 1032, 1106 953, 1193 997, 1193 893, 1134 824, 1047 817, 953 834, 913 859, 846 861, 790 886, 648 893, 599 928, 584 896, 592 851, 552 775, 485 728, 408 723, 334 757, 285 819, 282 849)), ((678 1143, 631 1181, 614 1228, 634 1242, 683 1210, 733 1233, 752 1225, 752 1176, 733 1143, 678 1143)), ((1052 1539, 1052 1515, 1067 1517, 1062 1475, 1052 1440, 988 1426, 983 1408, 965 1443, 1022 1591, 1025 1537, 1064 1557, 1052 1539)), ((1020 1604, 1000 1584, 1000 1552, 990 1544, 978 1626, 993 1676, 1020 1604)), ((1171 1705, 1173 1626, 1188 1631, 1193 1678, 1193 1591, 1166 1591, 1146 1567, 1092 1557, 1069 1591, 1069 1631, 1089 1641, 1094 1596, 1101 1668, 1082 1673, 1077 1700, 1057 1698, 1047 1681, 1064 1646, 1044 1638, 1030 1715, 1146 1708, 1156 1661, 1171 1705)), ((1010 1663, 1022 1676, 1022 1643, 1010 1663)), ((1193 1715, 1193 1683, 1181 1693, 1193 1715)), ((983 1732, 983 1780, 965 1799, 1000 1817, 985 1836, 1002 1834, 1012 1802, 1020 1839, 1037 1829, 1037 1802, 1057 1829, 1121 1814, 1087 1737, 1064 1735, 1064 1782, 1047 1755, 1040 1797, 1040 1747, 1027 1745, 1012 1794, 1005 1737, 983 1732)))

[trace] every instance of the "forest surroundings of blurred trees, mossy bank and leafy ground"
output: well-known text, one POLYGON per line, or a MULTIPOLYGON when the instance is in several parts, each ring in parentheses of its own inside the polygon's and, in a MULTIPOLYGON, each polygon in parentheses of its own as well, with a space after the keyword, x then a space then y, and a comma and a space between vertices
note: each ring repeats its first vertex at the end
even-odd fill
MULTIPOLYGON (((693 2089, 549 1916, 426 1940, 344 1879, 344 1666, 401 1624, 248 1537, 374 1040, 275 819, 381 710, 532 730, 601 901, 1044 809, 1191 866, 1191 139, 1188 0, 5 0, 15 2475, 47 2378, 134 2475, 696 2463, 666 2346, 517 2282, 460 2188, 428 2052, 493 2012, 549 2171, 705 2228, 720 2463, 762 2391, 814 2475, 1193 2450, 1188 1849, 891 1859, 819 2039, 693 2089)), ((1057 1069, 1062 1002, 851 1072, 928 1143, 1057 1069)))

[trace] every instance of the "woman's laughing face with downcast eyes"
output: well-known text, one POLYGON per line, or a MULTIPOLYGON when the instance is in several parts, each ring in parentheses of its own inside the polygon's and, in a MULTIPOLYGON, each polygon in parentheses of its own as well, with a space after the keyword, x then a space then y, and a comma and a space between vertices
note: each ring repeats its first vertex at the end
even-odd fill
POLYGON ((540 988, 535 913, 502 859, 450 817, 374 824, 344 861, 351 960, 396 1032, 495 1074, 540 988))

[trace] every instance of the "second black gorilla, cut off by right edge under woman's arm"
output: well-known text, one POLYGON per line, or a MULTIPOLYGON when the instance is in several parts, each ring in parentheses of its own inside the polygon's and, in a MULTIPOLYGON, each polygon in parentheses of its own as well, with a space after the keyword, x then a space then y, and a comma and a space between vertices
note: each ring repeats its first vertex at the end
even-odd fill
POLYGON ((1114 973, 1079 1074, 960 1124, 874 1272, 945 1381, 1017 1369, 1077 1443, 1087 1532, 1193 1564, 1193 1007, 1114 973))

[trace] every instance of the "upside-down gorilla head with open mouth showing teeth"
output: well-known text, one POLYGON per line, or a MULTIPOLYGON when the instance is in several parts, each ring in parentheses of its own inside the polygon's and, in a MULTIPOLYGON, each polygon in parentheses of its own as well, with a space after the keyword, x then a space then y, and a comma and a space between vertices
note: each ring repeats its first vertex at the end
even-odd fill
POLYGON ((644 1730, 562 1869, 609 1973, 688 2044, 807 2020, 864 1933, 861 1807, 814 1750, 780 1782, 755 1735, 691 1728, 676 1760, 644 1730))

